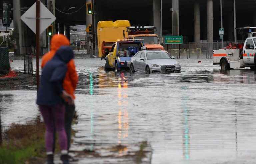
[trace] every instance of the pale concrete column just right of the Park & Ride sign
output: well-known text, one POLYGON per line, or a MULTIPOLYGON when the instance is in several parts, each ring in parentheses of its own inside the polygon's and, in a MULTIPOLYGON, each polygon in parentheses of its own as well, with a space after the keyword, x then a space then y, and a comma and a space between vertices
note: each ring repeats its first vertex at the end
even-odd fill
POLYGON ((194 3, 194 38, 195 42, 201 40, 200 38, 200 3, 195 1, 194 3))

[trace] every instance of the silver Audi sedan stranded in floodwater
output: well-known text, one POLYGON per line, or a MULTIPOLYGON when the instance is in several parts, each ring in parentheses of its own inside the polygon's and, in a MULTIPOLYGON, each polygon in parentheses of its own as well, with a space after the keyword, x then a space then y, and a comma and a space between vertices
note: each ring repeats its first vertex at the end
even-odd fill
POLYGON ((167 51, 143 50, 131 58, 130 72, 170 73, 181 72, 181 65, 167 51))

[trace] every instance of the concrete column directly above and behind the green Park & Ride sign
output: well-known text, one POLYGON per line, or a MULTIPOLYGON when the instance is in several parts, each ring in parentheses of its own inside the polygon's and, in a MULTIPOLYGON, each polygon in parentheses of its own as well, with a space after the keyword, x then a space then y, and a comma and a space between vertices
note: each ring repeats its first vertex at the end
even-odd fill
POLYGON ((172 0, 172 34, 179 35, 179 0, 172 0))

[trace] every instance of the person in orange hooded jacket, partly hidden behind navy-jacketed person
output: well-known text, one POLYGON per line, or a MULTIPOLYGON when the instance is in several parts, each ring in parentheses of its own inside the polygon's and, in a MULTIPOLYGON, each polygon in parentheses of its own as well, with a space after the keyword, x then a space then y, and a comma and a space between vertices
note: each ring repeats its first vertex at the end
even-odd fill
MULTIPOLYGON (((51 39, 51 51, 49 51, 42 57, 41 68, 43 68, 46 65, 46 63, 53 58, 56 51, 61 46, 69 46, 69 45, 70 45, 70 42, 67 37, 65 37, 63 34, 55 34, 51 39)), ((70 94, 73 99, 75 99, 74 91, 76 89, 77 82, 78 82, 78 76, 75 68, 75 62, 74 62, 74 59, 72 59, 67 64, 67 73, 63 81, 63 89, 68 94, 70 94)), ((65 105, 65 131, 67 133, 68 150, 69 150, 70 140, 71 140, 71 124, 75 114, 75 105, 74 104, 70 105, 67 101, 64 102, 64 105, 65 105)), ((55 134, 54 134, 54 138, 55 138, 55 134)), ((55 147, 53 147, 53 151, 54 149, 55 147)), ((71 156, 69 156, 69 158, 72 161, 73 158, 71 156)))

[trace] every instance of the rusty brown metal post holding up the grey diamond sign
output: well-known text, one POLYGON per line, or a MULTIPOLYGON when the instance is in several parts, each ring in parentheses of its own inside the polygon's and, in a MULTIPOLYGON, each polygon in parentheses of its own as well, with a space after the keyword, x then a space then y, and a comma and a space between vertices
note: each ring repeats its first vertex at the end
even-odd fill
POLYGON ((36 0, 36 88, 40 86, 39 82, 39 54, 40 54, 40 0, 36 0))

